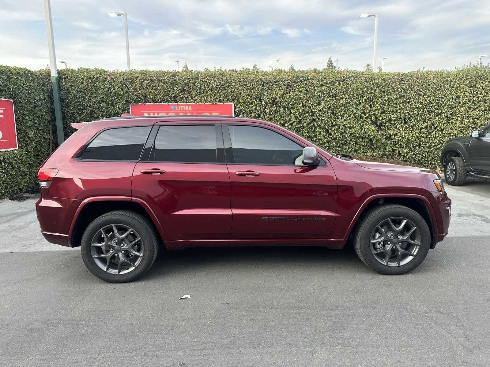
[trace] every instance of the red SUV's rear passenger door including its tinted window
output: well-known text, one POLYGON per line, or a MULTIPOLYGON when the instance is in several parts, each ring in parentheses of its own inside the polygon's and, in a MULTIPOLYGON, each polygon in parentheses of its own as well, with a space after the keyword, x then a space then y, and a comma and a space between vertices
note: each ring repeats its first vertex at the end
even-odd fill
POLYGON ((219 121, 158 123, 143 156, 132 196, 148 203, 168 240, 229 238, 230 179, 219 121))

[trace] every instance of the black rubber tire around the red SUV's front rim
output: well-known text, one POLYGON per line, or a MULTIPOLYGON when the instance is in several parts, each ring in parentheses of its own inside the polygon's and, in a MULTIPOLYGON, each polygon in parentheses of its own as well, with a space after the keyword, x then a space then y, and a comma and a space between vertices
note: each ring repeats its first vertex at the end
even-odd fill
POLYGON ((408 273, 417 268, 425 259, 425 256, 427 256, 427 252, 429 252, 431 242, 429 227, 420 214, 409 207, 396 204, 377 206, 363 215, 360 221, 354 233, 354 250, 369 268, 380 274, 399 275, 408 273), (420 233, 420 247, 415 257, 408 263, 400 266, 381 264, 371 252, 371 234, 377 228, 378 224, 392 217, 408 219, 417 226, 418 232, 420 233))

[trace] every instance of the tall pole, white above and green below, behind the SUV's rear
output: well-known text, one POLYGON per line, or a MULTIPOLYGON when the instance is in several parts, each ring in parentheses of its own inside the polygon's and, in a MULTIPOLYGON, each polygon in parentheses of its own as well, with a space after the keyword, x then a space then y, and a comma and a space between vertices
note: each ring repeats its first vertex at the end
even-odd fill
POLYGON ((56 120, 56 134, 58 145, 65 141, 63 132, 63 118, 61 116, 61 99, 58 83, 58 71, 56 69, 56 53, 54 50, 53 23, 51 20, 51 4, 44 0, 44 16, 46 19, 46 35, 48 37, 49 69, 51 70, 51 86, 53 88, 54 117, 56 120))

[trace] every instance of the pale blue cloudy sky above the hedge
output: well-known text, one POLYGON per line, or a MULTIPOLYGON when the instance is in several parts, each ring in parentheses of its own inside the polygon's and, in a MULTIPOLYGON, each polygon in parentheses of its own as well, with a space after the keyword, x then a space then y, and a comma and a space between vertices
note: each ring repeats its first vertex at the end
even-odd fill
MULTIPOLYGON (((51 0, 57 60, 70 68, 125 69, 128 14, 132 69, 340 68, 378 61, 386 71, 453 69, 490 61, 490 0, 51 0)), ((43 0, 0 0, 0 64, 49 63, 43 0)), ((60 64, 60 67, 63 67, 60 64)))

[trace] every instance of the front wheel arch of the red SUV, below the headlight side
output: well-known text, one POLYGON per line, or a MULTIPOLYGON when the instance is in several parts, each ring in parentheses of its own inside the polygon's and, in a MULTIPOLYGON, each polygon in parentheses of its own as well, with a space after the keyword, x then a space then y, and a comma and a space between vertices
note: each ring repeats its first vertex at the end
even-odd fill
POLYGON ((378 194, 370 196, 359 208, 344 236, 344 244, 353 235, 364 215, 372 208, 385 204, 399 204, 415 210, 427 223, 431 234, 431 249, 437 243, 437 219, 427 198, 416 194, 378 194))

